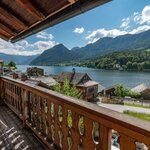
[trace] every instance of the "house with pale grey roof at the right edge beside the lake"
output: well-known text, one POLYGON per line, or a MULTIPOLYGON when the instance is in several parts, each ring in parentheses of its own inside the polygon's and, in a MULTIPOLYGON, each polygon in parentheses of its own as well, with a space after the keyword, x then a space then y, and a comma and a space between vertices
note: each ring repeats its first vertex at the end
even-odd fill
POLYGON ((150 100, 150 87, 144 83, 132 88, 131 91, 140 93, 141 97, 145 100, 150 100))

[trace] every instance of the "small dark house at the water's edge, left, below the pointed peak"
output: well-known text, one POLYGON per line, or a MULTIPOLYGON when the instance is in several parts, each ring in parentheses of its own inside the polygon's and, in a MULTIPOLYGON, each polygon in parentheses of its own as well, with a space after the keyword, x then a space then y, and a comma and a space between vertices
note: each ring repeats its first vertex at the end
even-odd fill
POLYGON ((43 76, 44 69, 37 68, 37 67, 27 68, 27 75, 28 76, 43 76))

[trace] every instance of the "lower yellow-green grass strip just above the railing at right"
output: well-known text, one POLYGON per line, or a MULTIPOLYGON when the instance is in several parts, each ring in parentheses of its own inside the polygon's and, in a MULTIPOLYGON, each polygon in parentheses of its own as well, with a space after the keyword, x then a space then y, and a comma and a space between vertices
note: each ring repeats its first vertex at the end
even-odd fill
POLYGON ((129 110, 125 110, 123 113, 145 121, 150 121, 150 114, 139 113, 139 112, 134 112, 129 110))

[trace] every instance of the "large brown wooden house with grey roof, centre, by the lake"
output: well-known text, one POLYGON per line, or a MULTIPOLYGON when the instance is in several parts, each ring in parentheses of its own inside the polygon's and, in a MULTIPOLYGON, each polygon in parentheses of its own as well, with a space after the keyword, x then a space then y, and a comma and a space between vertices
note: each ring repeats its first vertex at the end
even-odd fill
POLYGON ((75 84, 83 95, 83 98, 87 101, 92 100, 98 94, 98 83, 92 81, 87 73, 63 72, 57 77, 57 82, 61 85, 64 84, 65 79, 69 81, 70 85, 75 84))

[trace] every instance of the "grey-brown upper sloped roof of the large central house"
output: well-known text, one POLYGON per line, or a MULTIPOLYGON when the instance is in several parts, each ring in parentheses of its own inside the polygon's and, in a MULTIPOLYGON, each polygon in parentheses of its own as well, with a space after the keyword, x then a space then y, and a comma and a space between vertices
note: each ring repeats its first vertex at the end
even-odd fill
POLYGON ((57 81, 58 82, 64 82, 64 80, 67 79, 70 84, 77 85, 81 82, 83 77, 86 76, 86 75, 87 75, 86 73, 63 72, 60 75, 58 75, 57 81))

